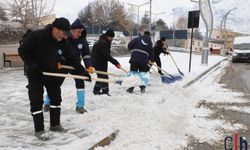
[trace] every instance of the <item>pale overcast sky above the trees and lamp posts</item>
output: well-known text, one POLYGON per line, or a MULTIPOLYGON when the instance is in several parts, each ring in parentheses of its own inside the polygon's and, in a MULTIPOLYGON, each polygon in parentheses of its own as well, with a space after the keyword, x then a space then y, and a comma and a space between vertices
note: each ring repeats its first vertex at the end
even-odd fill
MULTIPOLYGON (((55 13, 57 17, 66 17, 71 22, 77 17, 78 12, 84 8, 88 3, 93 0, 56 0, 55 13)), ((120 0, 126 6, 130 8, 128 3, 141 5, 149 2, 149 0, 120 0)), ((210 0, 212 3, 213 15, 214 15, 214 28, 220 25, 222 16, 233 7, 237 7, 227 20, 227 28, 234 31, 250 33, 250 13, 249 13, 249 0, 210 0)), ((188 11, 198 9, 198 4, 191 2, 190 0, 152 0, 152 12, 162 13, 162 15, 152 15, 152 21, 162 18, 168 26, 173 25, 174 15, 173 9, 175 9, 175 19, 180 16, 188 16, 188 11)), ((149 4, 140 7, 140 18, 145 11, 149 11, 149 4)), ((134 10, 137 17, 137 9, 134 10)), ((136 18, 135 18, 136 19, 136 18)), ((200 19, 200 31, 204 31, 204 24, 200 19)))

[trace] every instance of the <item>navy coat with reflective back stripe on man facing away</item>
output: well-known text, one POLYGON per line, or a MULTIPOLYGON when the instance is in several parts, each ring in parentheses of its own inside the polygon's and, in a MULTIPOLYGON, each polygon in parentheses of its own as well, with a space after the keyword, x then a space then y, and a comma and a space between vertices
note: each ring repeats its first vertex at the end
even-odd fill
POLYGON ((153 61, 154 59, 152 41, 147 35, 134 38, 129 42, 128 49, 131 50, 130 63, 147 65, 149 60, 153 61))

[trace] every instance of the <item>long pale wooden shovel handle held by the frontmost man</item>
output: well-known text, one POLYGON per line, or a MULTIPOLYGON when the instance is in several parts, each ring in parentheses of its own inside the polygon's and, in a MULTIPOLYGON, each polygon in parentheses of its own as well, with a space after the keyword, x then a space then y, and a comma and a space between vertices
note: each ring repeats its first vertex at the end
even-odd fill
MULTIPOLYGON (((53 76, 53 77, 82 79, 82 80, 88 80, 89 79, 86 76, 64 74, 64 73, 43 72, 43 75, 53 76)), ((122 83, 123 83, 123 80, 109 80, 109 79, 102 79, 102 78, 92 78, 92 80, 95 80, 95 81, 98 81, 98 82, 105 82, 105 83, 114 83, 114 84, 119 84, 119 85, 122 85, 122 83)))

